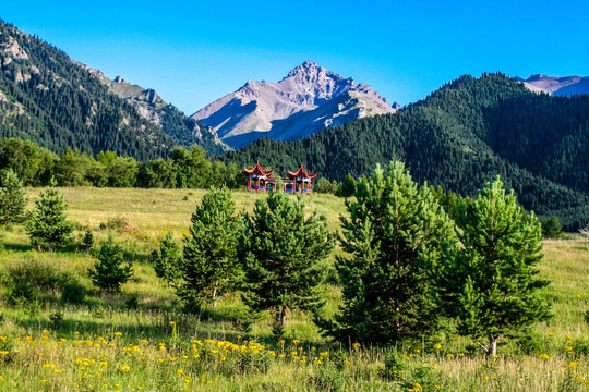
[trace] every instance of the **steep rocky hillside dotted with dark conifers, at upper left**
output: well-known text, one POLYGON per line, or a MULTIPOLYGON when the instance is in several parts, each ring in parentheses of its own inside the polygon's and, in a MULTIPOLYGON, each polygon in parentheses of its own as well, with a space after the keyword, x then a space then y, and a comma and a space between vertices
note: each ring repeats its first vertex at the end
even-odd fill
POLYGON ((158 117, 149 121, 104 78, 0 20, 0 138, 29 139, 58 154, 110 150, 141 161, 166 157, 173 145, 224 150, 208 127, 159 97, 142 102, 144 111, 158 117))

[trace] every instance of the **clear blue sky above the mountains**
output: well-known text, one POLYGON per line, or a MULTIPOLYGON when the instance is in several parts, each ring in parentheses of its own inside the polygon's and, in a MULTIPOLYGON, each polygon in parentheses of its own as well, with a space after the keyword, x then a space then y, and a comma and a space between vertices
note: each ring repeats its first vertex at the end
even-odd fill
POLYGON ((589 75, 589 1, 2 1, 0 17, 187 114, 312 60, 388 101, 461 74, 589 75))

